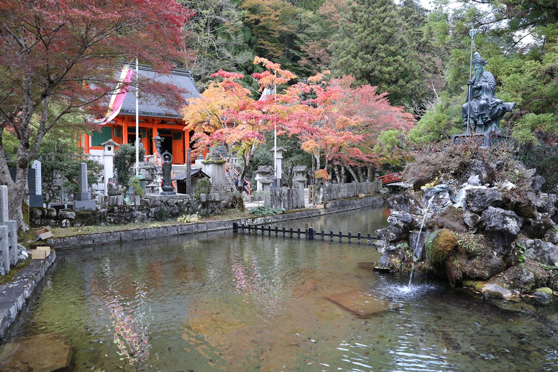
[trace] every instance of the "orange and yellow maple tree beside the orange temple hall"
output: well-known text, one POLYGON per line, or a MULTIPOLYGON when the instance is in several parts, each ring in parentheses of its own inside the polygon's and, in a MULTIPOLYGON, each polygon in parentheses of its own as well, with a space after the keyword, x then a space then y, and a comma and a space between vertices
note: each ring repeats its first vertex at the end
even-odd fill
MULTIPOLYGON (((296 76, 282 70, 281 65, 256 57, 254 64, 261 64, 266 70, 253 74, 260 90, 287 83, 296 76)), ((239 80, 243 74, 219 70, 211 75, 220 78, 211 83, 199 98, 191 99, 182 109, 186 126, 184 131, 194 131, 196 152, 222 145, 229 157, 233 153, 241 160, 239 179, 243 180, 251 164, 254 151, 265 142, 263 132, 288 120, 288 109, 280 108, 274 95, 263 95, 254 99, 251 91, 244 88, 239 80)), ((242 182, 239 182, 241 190, 242 182)))

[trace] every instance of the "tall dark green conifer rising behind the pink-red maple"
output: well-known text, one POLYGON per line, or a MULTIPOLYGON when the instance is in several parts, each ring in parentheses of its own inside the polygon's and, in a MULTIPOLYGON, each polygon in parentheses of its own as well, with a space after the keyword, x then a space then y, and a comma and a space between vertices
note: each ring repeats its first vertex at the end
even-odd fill
POLYGON ((420 100, 418 53, 392 0, 353 1, 339 23, 330 45, 337 75, 352 74, 355 84, 378 86, 396 105, 420 100))

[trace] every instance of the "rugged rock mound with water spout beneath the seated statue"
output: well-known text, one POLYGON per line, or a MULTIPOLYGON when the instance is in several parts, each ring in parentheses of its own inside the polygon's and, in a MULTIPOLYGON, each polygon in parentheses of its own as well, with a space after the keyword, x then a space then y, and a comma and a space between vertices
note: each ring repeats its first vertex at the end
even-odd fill
MULTIPOLYGON (((455 152, 437 156, 451 163, 444 157, 455 152)), ((379 267, 408 271, 414 262, 423 274, 474 284, 487 296, 558 291, 558 196, 540 191, 536 170, 492 155, 447 172, 432 171, 431 155, 423 160, 403 172, 419 190, 388 200, 389 226, 377 231, 379 267)))

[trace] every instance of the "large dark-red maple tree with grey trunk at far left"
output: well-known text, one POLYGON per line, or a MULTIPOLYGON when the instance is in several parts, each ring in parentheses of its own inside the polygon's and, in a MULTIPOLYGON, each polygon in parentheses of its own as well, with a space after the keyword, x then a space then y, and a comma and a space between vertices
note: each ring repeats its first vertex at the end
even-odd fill
MULTIPOLYGON (((45 135, 66 115, 101 117, 121 61, 137 57, 169 72, 185 56, 181 27, 190 16, 174 0, 0 1, 0 181, 20 228, 27 229, 27 168, 45 135), (7 132, 18 142, 15 181, 2 143, 7 132)), ((182 100, 171 86, 147 89, 166 105, 182 100)))

